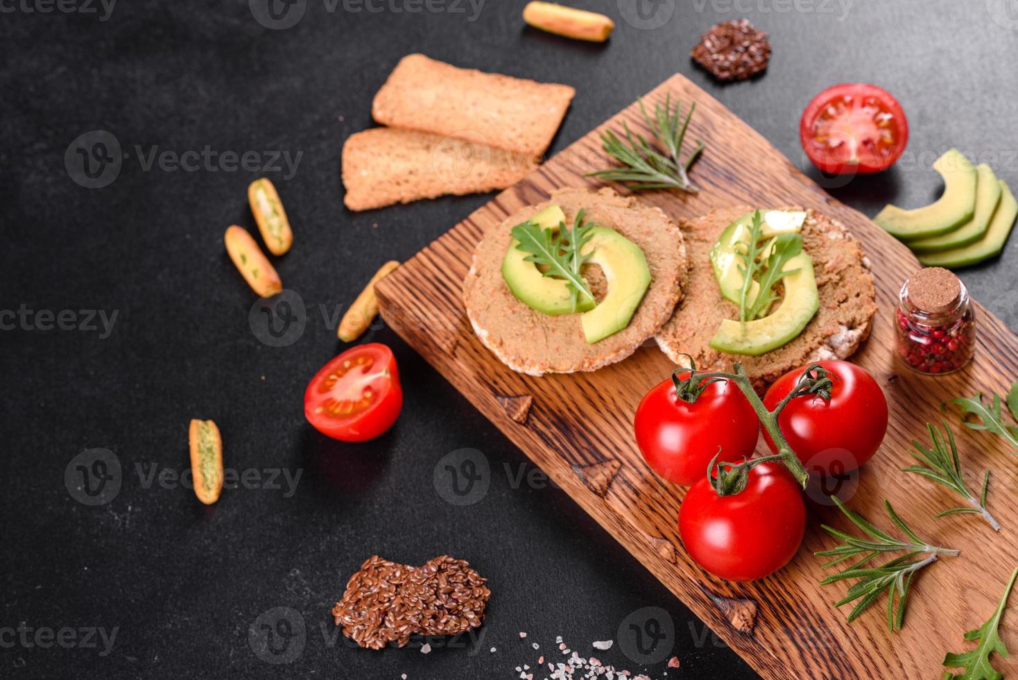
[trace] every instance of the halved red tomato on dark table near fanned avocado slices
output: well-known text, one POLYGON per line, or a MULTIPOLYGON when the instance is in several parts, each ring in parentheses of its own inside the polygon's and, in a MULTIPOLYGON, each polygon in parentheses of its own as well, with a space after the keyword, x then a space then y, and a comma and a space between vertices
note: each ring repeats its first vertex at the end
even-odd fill
POLYGON ((865 174, 890 167, 908 144, 905 111, 891 93, 865 82, 828 88, 799 120, 806 156, 828 174, 865 174))

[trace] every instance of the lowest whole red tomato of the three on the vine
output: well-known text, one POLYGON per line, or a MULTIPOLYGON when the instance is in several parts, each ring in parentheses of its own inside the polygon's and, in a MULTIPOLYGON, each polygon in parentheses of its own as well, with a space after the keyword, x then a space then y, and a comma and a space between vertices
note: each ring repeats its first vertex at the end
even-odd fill
POLYGON ((745 489, 731 496, 718 496, 704 475, 679 507, 679 535, 689 557, 730 581, 764 578, 784 567, 805 529, 802 495, 778 462, 753 467, 745 489))

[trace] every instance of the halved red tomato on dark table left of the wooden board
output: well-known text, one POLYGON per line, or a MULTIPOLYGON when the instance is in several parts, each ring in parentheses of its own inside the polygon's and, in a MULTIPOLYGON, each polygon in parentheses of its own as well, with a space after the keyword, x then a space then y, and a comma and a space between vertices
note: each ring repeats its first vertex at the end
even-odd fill
POLYGON ((304 390, 304 416, 344 442, 375 439, 399 417, 403 388, 396 357, 377 342, 351 347, 315 374, 304 390))

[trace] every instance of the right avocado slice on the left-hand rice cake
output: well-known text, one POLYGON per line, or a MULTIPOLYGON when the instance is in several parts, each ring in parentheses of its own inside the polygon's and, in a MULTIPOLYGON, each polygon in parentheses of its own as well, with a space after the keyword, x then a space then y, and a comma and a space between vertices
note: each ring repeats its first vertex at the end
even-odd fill
POLYGON ((599 265, 608 280, 605 298, 580 317, 583 337, 593 344, 629 325, 651 287, 651 270, 638 245, 607 227, 591 228, 590 240, 580 252, 589 253, 587 264, 599 265))

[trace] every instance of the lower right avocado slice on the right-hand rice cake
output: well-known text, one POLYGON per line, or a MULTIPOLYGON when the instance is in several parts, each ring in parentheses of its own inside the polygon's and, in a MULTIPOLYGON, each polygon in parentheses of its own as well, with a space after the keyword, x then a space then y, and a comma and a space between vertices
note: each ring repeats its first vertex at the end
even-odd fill
MULTIPOLYGON (((711 347, 730 354, 759 356, 792 341, 821 308, 812 258, 801 252, 785 263, 785 297, 772 314, 747 321, 745 333, 738 321, 726 319, 711 338, 711 347)), ((783 270, 783 271, 784 271, 783 270)))

